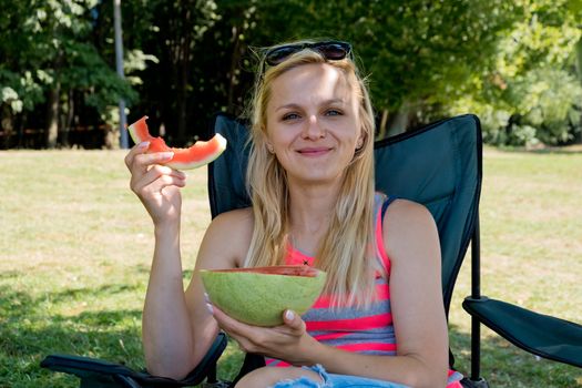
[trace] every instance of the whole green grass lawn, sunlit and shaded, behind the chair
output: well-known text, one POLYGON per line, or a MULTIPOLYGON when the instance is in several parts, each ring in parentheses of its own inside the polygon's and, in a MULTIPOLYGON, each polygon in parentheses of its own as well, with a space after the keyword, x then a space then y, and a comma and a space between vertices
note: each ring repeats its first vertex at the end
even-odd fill
MULTIPOLYGON (((141 309, 153 235, 129 190, 124 152, 0 152, 0 387, 76 387, 43 370, 52 353, 143 367, 141 309)), ((582 317, 582 153, 486 150, 482 290, 544 314, 582 317)), ((210 222, 206 172, 184 190, 183 259, 191 274, 210 222)), ((469 263, 451 312, 451 347, 469 370, 469 263)), ((582 387, 582 370, 537 359, 482 330, 492 387, 582 387)), ((241 355, 219 365, 232 376, 241 355)))

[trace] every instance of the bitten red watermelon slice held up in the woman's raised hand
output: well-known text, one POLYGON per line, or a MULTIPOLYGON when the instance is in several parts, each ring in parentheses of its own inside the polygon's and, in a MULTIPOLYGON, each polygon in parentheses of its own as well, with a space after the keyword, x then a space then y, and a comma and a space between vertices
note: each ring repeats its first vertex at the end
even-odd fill
POLYGON ((143 116, 127 127, 131 139, 135 144, 141 142, 150 142, 147 153, 153 152, 173 152, 174 156, 165 165, 176 170, 190 170, 201 167, 214 161, 226 150, 226 139, 219 133, 207 142, 197 141, 188 149, 173 149, 165 144, 162 137, 154 137, 150 135, 147 124, 145 123, 147 116, 143 116))

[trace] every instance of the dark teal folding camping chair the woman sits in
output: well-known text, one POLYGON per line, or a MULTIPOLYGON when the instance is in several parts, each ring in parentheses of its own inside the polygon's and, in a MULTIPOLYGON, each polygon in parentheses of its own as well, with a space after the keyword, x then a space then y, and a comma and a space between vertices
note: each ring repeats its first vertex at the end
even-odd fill
MULTIPOLYGON (((213 124, 212 132, 221 133, 228 141, 224 154, 208 166, 208 196, 214 217, 233 208, 248 206, 249 200, 244 181, 247 130, 242 122, 223 114, 216 115, 213 124)), ((479 370, 480 321, 525 350, 582 366, 580 325, 509 307, 480 295, 478 215, 481 153, 481 129, 474 115, 442 120, 375 144, 377 188, 422 203, 435 217, 442 251, 442 293, 447 315, 457 275, 472 242, 472 294, 463 303, 463 307, 473 315, 471 376, 463 384, 467 387, 487 387, 479 370), (532 324, 530 319, 533 319, 532 324), (543 333, 540 333, 540 327, 543 333), (525 328, 535 330, 524 333, 525 328), (533 345, 529 340, 533 340, 533 345)), ((227 387, 228 382, 216 382, 216 360, 225 346, 226 337, 221 334, 206 358, 182 381, 78 356, 51 355, 41 366, 76 375, 83 388, 195 386, 204 379, 210 385, 227 387)), ((450 354, 452 367, 455 359, 450 354)), ((247 355, 235 381, 262 365, 262 357, 247 355)))

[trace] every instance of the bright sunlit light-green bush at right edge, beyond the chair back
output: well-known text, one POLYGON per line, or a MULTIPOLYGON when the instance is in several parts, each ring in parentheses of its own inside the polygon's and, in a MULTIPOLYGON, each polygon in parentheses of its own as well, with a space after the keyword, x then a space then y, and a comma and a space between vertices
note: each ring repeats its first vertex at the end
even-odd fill
POLYGON ((498 145, 537 146, 571 143, 582 131, 582 88, 564 70, 533 69, 518 75, 496 100, 467 95, 457 112, 479 115, 484 141, 498 145))

